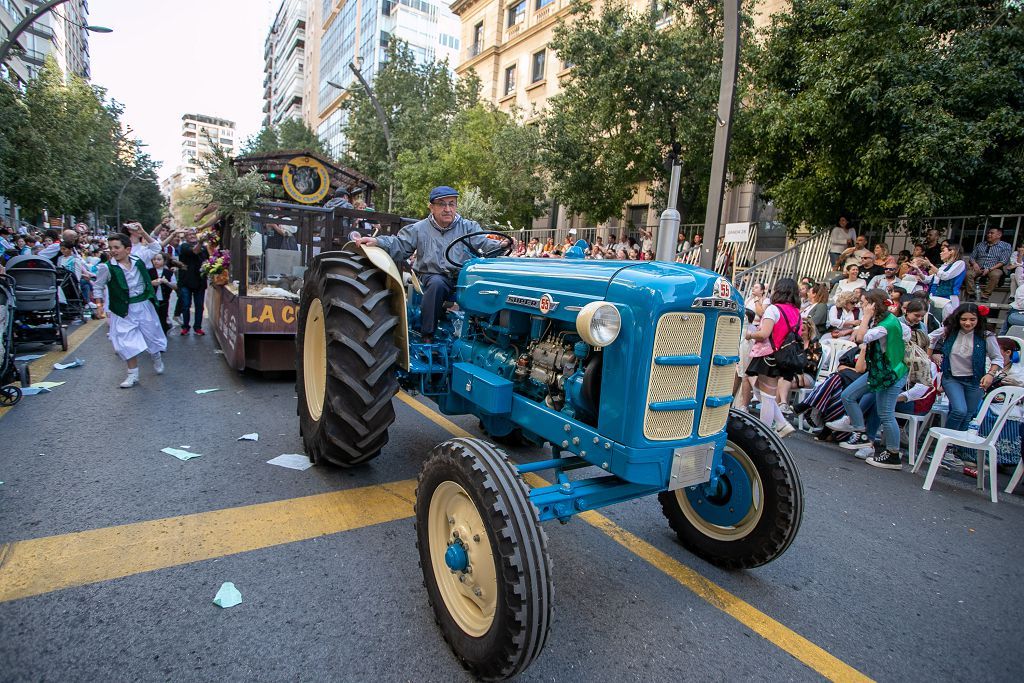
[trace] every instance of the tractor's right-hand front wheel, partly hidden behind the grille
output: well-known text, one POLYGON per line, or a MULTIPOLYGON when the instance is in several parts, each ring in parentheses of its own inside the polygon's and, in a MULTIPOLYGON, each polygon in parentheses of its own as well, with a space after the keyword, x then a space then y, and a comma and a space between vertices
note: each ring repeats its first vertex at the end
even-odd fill
POLYGON ((804 487, 782 441, 731 411, 719 485, 658 495, 669 526, 690 552, 727 569, 771 562, 790 547, 804 514, 804 487))

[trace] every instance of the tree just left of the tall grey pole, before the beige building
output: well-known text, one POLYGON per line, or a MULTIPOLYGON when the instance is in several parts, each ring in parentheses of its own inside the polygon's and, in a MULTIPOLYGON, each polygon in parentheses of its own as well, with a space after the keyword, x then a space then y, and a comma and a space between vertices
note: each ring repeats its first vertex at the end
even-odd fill
POLYGON ((641 12, 578 0, 551 47, 572 65, 544 120, 553 195, 593 221, 621 215, 637 183, 668 185, 665 157, 682 144, 679 209, 702 214, 722 59, 721 3, 678 0, 641 12))

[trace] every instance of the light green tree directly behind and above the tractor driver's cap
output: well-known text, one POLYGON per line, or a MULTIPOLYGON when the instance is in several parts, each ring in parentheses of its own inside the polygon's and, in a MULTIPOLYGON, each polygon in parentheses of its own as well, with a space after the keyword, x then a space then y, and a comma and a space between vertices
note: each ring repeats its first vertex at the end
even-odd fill
POLYGON ((481 206, 488 207, 482 212, 488 215, 477 216, 463 202, 460 211, 468 218, 528 227, 544 209, 540 145, 535 126, 478 102, 459 112, 431 144, 398 155, 395 178, 403 198, 398 210, 422 214, 430 188, 447 184, 460 190, 476 188, 481 206), (489 208, 496 209, 494 215, 489 208))

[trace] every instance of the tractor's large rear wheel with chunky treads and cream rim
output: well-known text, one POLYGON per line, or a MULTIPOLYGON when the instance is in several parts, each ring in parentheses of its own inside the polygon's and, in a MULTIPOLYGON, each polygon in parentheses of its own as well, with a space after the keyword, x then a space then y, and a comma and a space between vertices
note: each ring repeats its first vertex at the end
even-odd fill
POLYGON ((380 454, 394 422, 398 317, 387 275, 347 252, 317 258, 296 334, 299 427, 309 459, 342 467, 380 454))

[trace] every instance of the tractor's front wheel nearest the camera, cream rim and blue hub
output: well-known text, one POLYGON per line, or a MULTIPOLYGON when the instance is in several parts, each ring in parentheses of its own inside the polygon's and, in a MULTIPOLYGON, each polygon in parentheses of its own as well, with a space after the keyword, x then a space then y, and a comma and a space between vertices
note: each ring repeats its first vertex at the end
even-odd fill
POLYGON ((434 617, 462 665, 519 674, 551 624, 547 536, 504 453, 456 438, 436 446, 416 490, 416 543, 434 617))

